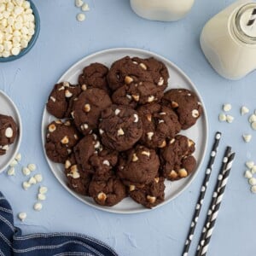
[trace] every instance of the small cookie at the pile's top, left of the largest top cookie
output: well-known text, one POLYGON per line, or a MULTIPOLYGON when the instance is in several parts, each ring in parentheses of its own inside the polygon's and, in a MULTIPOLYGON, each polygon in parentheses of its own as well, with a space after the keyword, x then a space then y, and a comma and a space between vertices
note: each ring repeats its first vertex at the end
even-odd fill
POLYGON ((79 75, 79 84, 82 89, 99 88, 109 91, 107 82, 108 67, 101 63, 92 63, 84 67, 83 73, 79 75))

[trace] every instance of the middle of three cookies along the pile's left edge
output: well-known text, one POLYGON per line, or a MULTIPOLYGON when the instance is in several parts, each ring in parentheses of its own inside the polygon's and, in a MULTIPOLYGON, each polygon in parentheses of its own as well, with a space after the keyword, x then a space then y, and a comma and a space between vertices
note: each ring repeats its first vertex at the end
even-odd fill
POLYGON ((50 160, 65 163, 73 147, 79 142, 79 132, 69 120, 56 120, 47 127, 45 150, 50 160))

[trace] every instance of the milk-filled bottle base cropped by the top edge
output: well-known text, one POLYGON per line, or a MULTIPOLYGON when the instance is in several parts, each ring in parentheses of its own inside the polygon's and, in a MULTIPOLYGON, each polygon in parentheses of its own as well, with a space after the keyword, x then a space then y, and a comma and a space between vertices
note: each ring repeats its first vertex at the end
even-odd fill
POLYGON ((148 20, 174 21, 187 15, 194 0, 130 0, 131 9, 148 20))

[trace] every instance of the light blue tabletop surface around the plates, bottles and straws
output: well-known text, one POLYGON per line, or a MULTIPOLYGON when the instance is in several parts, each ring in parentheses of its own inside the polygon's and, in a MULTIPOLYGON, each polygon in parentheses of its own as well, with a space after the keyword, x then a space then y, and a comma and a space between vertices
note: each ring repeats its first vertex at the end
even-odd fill
POLYGON ((75 231, 95 236, 124 256, 181 255, 207 166, 213 134, 222 131, 223 138, 206 204, 190 253, 193 255, 195 252, 224 148, 230 145, 236 151, 236 162, 208 255, 255 255, 256 195, 250 193, 243 172, 247 160, 256 161, 256 131, 250 128, 247 116, 241 117, 240 108, 246 105, 251 112, 256 108, 256 73, 235 82, 223 79, 209 66, 199 45, 200 32, 207 20, 233 1, 195 0, 195 6, 185 19, 170 23, 137 17, 127 0, 88 0, 91 10, 83 23, 75 18, 79 9, 73 6, 73 0, 34 2, 41 16, 38 42, 20 60, 0 64, 0 89, 15 101, 23 120, 24 135, 20 148, 23 159, 20 168, 30 162, 36 163, 38 172, 44 175, 44 184, 49 187, 49 193, 42 212, 34 212, 32 206, 36 201, 37 187, 24 191, 20 184, 26 177, 20 172, 16 177, 3 173, 0 176, 0 189, 9 199, 15 214, 20 211, 28 214, 24 224, 17 218, 15 224, 26 234, 36 231, 75 231), (49 171, 41 143, 44 102, 53 84, 83 56, 114 47, 148 49, 181 67, 201 92, 209 119, 207 158, 189 189, 164 207, 126 216, 98 211, 69 195, 49 171), (233 124, 218 122, 218 113, 225 102, 233 106, 230 111, 235 116, 233 124), (251 143, 242 141, 243 133, 253 135, 251 143))

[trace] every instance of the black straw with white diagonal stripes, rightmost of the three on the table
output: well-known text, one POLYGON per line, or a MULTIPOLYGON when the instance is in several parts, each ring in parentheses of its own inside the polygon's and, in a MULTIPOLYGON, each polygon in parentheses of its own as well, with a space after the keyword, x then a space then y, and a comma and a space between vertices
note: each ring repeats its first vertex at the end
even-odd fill
POLYGON ((213 206, 213 212, 212 212, 212 218, 211 218, 211 222, 208 224, 208 230, 207 230, 207 237, 205 240, 205 244, 204 246, 201 248, 201 256, 206 256, 207 255, 207 251, 208 251, 208 247, 209 247, 209 243, 211 241, 212 238, 212 232, 214 230, 214 226, 218 217, 218 211, 219 211, 219 207, 221 205, 221 202, 223 200, 224 197, 224 191, 230 176, 230 170, 232 168, 232 164, 233 164, 233 160, 235 159, 235 153, 230 154, 229 160, 228 160, 228 164, 227 164, 227 170, 224 173, 224 178, 223 181, 221 183, 221 186, 219 187, 219 191, 218 191, 218 198, 216 201, 216 204, 213 206))

